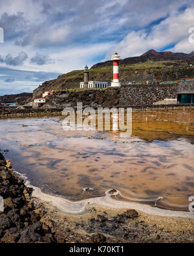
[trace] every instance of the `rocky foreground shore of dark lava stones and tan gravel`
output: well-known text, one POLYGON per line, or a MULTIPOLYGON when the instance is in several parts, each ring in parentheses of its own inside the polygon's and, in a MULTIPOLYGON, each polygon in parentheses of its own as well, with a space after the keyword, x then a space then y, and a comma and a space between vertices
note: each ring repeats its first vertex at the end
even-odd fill
MULTIPOLYGON (((6 154, 6 150, 3 152, 6 154)), ((0 153, 0 243, 194 242, 194 220, 146 215, 135 209, 89 206, 67 215, 32 197, 32 189, 0 153)))

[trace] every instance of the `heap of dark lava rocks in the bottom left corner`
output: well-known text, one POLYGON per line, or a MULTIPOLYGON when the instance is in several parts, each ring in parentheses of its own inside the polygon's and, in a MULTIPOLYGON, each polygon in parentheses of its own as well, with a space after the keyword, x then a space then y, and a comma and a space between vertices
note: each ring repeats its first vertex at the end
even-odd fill
POLYGON ((32 189, 8 166, 0 153, 0 196, 4 212, 0 213, 0 243, 56 242, 50 228, 50 218, 30 200, 32 189))

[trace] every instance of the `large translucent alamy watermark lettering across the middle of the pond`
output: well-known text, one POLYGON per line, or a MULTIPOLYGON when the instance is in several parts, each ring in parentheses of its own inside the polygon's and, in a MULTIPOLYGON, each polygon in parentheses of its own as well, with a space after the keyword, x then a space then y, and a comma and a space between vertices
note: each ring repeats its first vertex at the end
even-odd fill
POLYGON ((132 109, 131 108, 85 108, 77 103, 74 108, 64 108, 63 130, 98 130, 119 131, 120 137, 131 137, 132 109))

